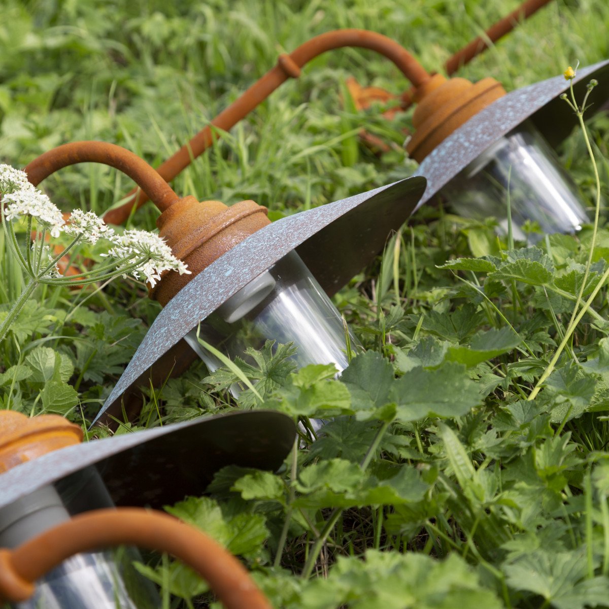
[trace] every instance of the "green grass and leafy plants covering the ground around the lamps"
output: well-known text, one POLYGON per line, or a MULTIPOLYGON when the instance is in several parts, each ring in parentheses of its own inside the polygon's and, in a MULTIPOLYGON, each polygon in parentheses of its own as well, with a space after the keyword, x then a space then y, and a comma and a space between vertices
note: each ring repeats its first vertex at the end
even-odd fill
MULTIPOLYGON (((0 158, 23 167, 58 144, 91 138, 159 164, 280 52, 318 33, 373 29, 438 70, 516 4, 5 0, 0 158)), ((606 2, 556 0, 459 75, 491 75, 512 90, 576 60, 597 62, 609 55, 607 23, 606 2)), ((279 217, 412 174, 415 165, 400 149, 410 113, 387 123, 376 110, 357 116, 345 109, 341 92, 350 75, 394 93, 408 86, 371 52, 329 52, 197 159, 175 190, 226 203, 251 198, 279 217), (377 157, 357 139, 359 127, 397 149, 377 157)), ((590 122, 604 199, 607 126, 606 116, 590 122)), ((582 134, 559 152, 591 206, 594 174, 582 134)), ((82 165, 44 186, 63 209, 103 213, 132 184, 107 167, 82 165)), ((157 215, 146 206, 130 225, 152 229, 157 215)), ((605 286, 544 388, 526 400, 564 336, 590 241, 585 228, 576 238, 551 236, 540 250, 518 243, 512 250, 508 239, 496 238, 493 219, 462 219, 448 203, 422 209, 334 297, 369 351, 340 381, 328 368, 290 375, 263 353, 261 398, 250 390, 233 400, 225 389, 230 372, 207 376, 202 365, 146 392, 136 427, 261 403, 294 417, 337 417, 325 437, 303 435, 280 473, 229 468, 209 496, 172 513, 238 554, 274 607, 608 606, 605 286), (482 255, 495 256, 495 268, 440 268, 482 255), (514 279, 516 267, 530 274, 514 279)), ((2 315, 24 278, 2 235, 0 247, 2 315)), ((608 256, 601 211, 593 280, 608 256)), ((133 280, 39 290, 36 298, 0 345, 2 407, 86 423, 158 305, 133 280), (71 392, 45 392, 49 380, 71 392)), ((177 565, 152 560, 140 568, 177 594, 167 606, 210 601, 177 565)))

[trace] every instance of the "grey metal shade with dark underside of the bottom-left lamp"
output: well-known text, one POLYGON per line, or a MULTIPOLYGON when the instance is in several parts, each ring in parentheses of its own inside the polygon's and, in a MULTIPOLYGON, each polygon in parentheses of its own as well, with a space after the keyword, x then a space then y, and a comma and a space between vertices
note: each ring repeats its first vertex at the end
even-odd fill
POLYGON ((0 509, 44 485, 86 477, 91 467, 114 504, 160 508, 185 495, 202 495, 227 465, 277 470, 295 436, 290 417, 252 410, 91 440, 0 474, 0 509), (163 475, 165 471, 171 476, 163 475))

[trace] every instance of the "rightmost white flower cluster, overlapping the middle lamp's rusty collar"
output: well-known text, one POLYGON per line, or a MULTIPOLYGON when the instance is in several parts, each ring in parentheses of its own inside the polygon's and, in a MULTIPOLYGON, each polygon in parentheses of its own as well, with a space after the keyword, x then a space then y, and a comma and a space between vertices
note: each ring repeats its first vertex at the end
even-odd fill
POLYGON ((184 262, 175 258, 169 245, 158 234, 143 230, 126 230, 121 235, 115 235, 111 241, 114 247, 102 256, 111 256, 118 260, 126 259, 124 263, 119 264, 118 269, 124 269, 133 261, 144 259, 142 264, 129 272, 136 279, 139 279, 139 273, 142 273, 150 287, 157 284, 161 273, 166 270, 177 270, 180 275, 191 273, 184 262))

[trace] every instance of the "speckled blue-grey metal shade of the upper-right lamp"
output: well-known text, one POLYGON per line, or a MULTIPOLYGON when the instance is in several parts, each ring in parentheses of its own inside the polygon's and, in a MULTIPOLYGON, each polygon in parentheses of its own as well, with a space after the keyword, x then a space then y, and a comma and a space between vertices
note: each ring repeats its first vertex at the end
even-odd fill
MULTIPOLYGON (((577 99, 582 99, 586 84, 593 78, 599 84, 588 97, 586 119, 602 110, 609 99, 609 60, 577 71, 573 80, 577 99)), ((417 174, 428 180, 419 206, 434 197, 491 144, 527 119, 551 146, 558 146, 577 124, 574 112, 560 99, 560 95, 568 90, 569 82, 563 76, 556 76, 512 91, 473 116, 429 153, 418 167, 417 174)))

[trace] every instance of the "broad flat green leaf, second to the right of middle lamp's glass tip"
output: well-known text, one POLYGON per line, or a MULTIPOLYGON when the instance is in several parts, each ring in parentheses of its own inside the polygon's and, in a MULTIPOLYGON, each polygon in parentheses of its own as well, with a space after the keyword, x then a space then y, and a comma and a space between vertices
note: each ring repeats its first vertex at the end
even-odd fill
POLYGON ((392 386, 393 401, 401 421, 427 416, 460 417, 480 401, 477 385, 465 366, 447 362, 437 370, 415 368, 392 386))

